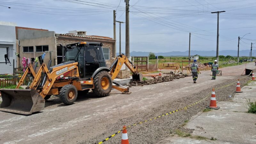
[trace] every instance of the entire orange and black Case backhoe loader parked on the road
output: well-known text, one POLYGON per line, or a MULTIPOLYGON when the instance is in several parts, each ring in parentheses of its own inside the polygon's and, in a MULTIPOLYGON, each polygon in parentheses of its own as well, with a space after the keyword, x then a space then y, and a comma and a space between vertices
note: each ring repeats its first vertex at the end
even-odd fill
POLYGON ((73 104, 80 91, 86 94, 92 89, 97 96, 107 96, 112 88, 130 93, 128 87, 113 82, 123 64, 133 73, 133 80, 142 80, 137 67, 124 55, 116 57, 110 68, 106 67, 102 43, 81 42, 62 46, 62 63, 50 67, 42 64, 36 73, 29 65, 16 89, 0 89, 1 111, 29 115, 44 109, 45 100, 51 95, 59 95, 64 104, 73 104), (27 74, 31 83, 26 89, 18 89, 27 74))

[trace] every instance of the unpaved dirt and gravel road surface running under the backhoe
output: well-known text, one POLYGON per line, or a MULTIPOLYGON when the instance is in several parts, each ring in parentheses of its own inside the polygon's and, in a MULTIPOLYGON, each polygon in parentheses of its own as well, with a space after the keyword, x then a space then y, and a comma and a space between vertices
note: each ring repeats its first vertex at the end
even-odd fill
MULTIPOLYGON (((245 65, 221 68, 222 76, 211 80, 210 71, 201 71, 197 84, 192 77, 170 82, 133 86, 130 95, 113 90, 107 97, 95 97, 92 93, 79 96, 75 104, 66 106, 59 98, 46 101, 42 112, 24 116, 0 112, 0 143, 98 143, 132 125, 167 112, 183 108, 209 95, 212 87, 235 82, 245 65)), ((246 68, 255 69, 254 63, 246 68)), ((250 77, 243 78, 243 85, 250 77)), ((217 100, 227 99, 235 90, 235 84, 216 91, 217 100)), ((209 104, 205 99, 194 107, 181 110, 128 129, 131 143, 156 143, 168 136, 209 104)), ((120 143, 121 133, 104 143, 120 143)))

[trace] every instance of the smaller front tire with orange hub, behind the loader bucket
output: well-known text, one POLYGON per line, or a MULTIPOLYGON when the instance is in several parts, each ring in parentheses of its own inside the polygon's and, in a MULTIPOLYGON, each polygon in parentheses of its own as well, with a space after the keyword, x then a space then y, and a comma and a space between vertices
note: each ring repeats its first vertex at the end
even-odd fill
POLYGON ((67 84, 60 89, 60 100, 66 104, 70 105, 76 101, 77 90, 74 85, 67 84))

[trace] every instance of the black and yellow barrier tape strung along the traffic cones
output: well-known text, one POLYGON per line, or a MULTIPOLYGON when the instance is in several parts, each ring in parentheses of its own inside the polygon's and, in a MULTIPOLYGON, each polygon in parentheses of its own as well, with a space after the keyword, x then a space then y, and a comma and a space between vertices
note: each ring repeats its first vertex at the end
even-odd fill
MULTIPOLYGON (((252 72, 251 72, 249 75, 247 75, 247 76, 250 76, 251 74, 252 74, 252 72)), ((243 78, 244 78, 244 77, 243 77, 243 78)), ((243 78, 240 78, 240 80, 243 79, 243 78)), ((237 80, 237 81, 238 81, 238 80, 237 80)), ((237 81, 236 81, 236 82, 237 82, 237 81)), ((220 89, 220 88, 224 88, 224 87, 228 87, 228 86, 230 86, 230 85, 232 85, 232 84, 235 84, 236 82, 233 82, 233 83, 230 83, 230 84, 227 84, 227 85, 224 85, 224 86, 215 88, 215 90, 220 89)), ((198 104, 199 102, 205 100, 207 97, 209 97, 209 96, 211 96, 211 95, 212 95, 212 92, 211 92, 209 95, 207 95, 205 98, 203 98, 202 100, 199 100, 199 101, 197 101, 197 102, 195 102, 195 103, 193 103, 193 104, 190 104, 190 105, 188 105, 188 106, 186 106, 186 107, 184 107, 184 108, 180 108, 180 109, 177 109, 177 110, 174 110, 174 111, 170 111, 170 112, 165 113, 165 114, 163 114, 163 115, 156 116, 156 117, 154 117, 154 118, 150 118, 150 119, 145 120, 145 121, 141 121, 141 122, 139 122, 139 123, 137 123, 137 124, 128 125, 128 126, 126 127, 126 129, 127 129, 127 128, 130 128, 130 127, 132 127, 132 126, 138 125, 138 124, 143 124, 143 123, 146 123, 146 122, 148 122, 148 121, 155 120, 155 119, 157 119, 157 118, 161 118, 161 117, 163 117, 163 116, 171 115, 171 114, 173 114, 173 113, 175 113, 175 112, 178 112, 178 111, 180 111, 180 110, 183 110, 183 109, 186 110, 186 109, 188 109, 189 107, 192 107, 192 106, 198 104)), ((122 130, 123 130, 123 129, 122 129, 122 130)), ((105 140, 100 141, 98 144, 102 144, 103 142, 109 140, 110 138, 114 137, 116 134, 122 132, 122 130, 120 130, 120 131, 118 131, 118 132, 112 134, 111 136, 109 136, 109 137, 106 138, 105 140)))

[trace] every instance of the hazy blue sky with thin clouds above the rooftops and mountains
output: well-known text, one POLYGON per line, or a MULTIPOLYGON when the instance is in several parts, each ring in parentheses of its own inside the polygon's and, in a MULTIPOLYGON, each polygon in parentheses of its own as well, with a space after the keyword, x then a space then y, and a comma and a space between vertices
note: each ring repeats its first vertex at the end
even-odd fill
MULTIPOLYGON (((113 37, 113 10, 117 20, 125 21, 124 0, 0 0, 0 20, 56 33, 85 30, 113 37)), ((250 49, 256 42, 255 0, 130 0, 130 52, 187 51, 189 32, 191 50, 216 50, 215 11, 226 11, 220 13, 219 50, 237 50, 238 36, 247 33, 240 50, 250 49)), ((119 23, 116 35, 118 52, 119 23)))

